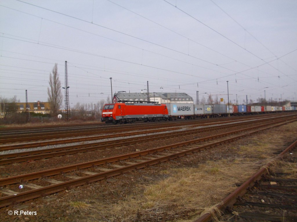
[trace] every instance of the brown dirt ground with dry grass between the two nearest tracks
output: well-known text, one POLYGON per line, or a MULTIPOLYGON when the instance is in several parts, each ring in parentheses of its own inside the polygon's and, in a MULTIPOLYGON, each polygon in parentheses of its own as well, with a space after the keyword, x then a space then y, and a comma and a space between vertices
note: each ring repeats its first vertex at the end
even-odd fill
POLYGON ((170 162, 3 207, 0 221, 192 221, 296 140, 296 135, 296 122, 269 129, 170 162), (21 210, 36 215, 15 215, 21 210))

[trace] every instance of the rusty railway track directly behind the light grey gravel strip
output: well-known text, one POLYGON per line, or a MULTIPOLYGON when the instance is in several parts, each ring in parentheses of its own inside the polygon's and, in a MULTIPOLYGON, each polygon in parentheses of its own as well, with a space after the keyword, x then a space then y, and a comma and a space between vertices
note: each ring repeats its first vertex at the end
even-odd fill
MULTIPOLYGON (((277 118, 277 117, 282 117, 282 116, 296 116, 296 114, 291 114, 291 115, 277 115, 274 117, 265 117, 264 119, 269 119, 269 118, 277 118)), ((251 120, 252 118, 244 118, 244 119, 240 119, 241 121, 244 120, 251 120)), ((114 129, 111 129, 110 131, 105 130, 102 131, 101 133, 104 135, 101 136, 89 136, 89 137, 80 137, 80 138, 71 138, 71 139, 63 139, 63 140, 52 140, 52 141, 39 141, 39 142, 31 142, 31 143, 26 143, 26 144, 7 144, 7 145, 2 145, 0 146, 0 151, 4 151, 4 150, 10 150, 10 149, 24 149, 24 148, 33 148, 33 147, 41 147, 41 146, 47 146, 47 145, 56 145, 56 144, 65 144, 65 143, 73 143, 73 142, 82 142, 82 141, 91 141, 91 140, 99 140, 99 139, 107 139, 107 138, 115 138, 115 137, 123 137, 123 136, 131 136, 131 135, 140 135, 140 134, 146 134, 146 133, 156 133, 156 132, 162 132, 162 131, 168 131, 168 130, 178 130, 181 128, 184 128, 185 126, 187 127, 197 127, 197 126, 209 126, 212 124, 221 124, 221 123, 233 123, 238 121, 236 120, 224 120, 224 121, 215 121, 215 122, 208 122, 208 123, 203 123, 203 124, 199 124, 197 125, 197 123, 192 123, 192 122, 187 122, 186 124, 182 124, 182 123, 178 123, 178 126, 176 126, 176 124, 174 124, 173 126, 162 126, 162 125, 158 125, 157 129, 154 126, 143 126, 142 128, 133 128, 133 131, 127 131, 127 129, 125 129, 125 133, 117 133, 117 134, 106 134, 106 133, 116 133, 116 132, 123 132, 123 129, 117 129, 116 131, 114 129), (153 128, 151 130, 149 130, 150 128, 153 128), (145 129, 143 131, 140 131, 141 129, 145 129)), ((96 132, 96 134, 100 134, 100 132, 96 132)), ((73 136, 73 134, 72 134, 73 136)), ((36 139, 39 137, 36 137, 35 139, 32 139, 33 141, 36 141, 36 139)), ((11 141, 13 141, 13 139, 10 139, 11 141)), ((28 138, 24 139, 25 141, 28 140, 28 138)), ((23 140, 21 140, 23 141, 23 140)), ((3 143, 0 140, 0 143, 3 143)), ((4 142, 5 143, 5 142, 4 142)))

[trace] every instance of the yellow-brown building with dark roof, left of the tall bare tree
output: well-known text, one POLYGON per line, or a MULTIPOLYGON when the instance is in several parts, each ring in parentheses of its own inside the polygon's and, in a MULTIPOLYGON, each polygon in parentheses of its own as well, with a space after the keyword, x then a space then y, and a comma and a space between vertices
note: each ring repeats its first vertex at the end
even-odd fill
POLYGON ((27 107, 25 102, 16 102, 15 105, 18 107, 18 112, 35 112, 41 114, 50 113, 50 103, 49 102, 28 102, 27 107), (26 109, 25 109, 26 107, 26 109))

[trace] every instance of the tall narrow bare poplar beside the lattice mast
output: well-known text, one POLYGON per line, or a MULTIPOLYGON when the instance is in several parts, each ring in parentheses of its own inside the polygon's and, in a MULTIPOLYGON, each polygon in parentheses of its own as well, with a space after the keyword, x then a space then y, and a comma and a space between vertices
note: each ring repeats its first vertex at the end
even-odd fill
POLYGON ((49 84, 50 88, 48 87, 48 102, 50 102, 50 109, 52 111, 52 115, 56 116, 61 107, 63 99, 57 63, 55 63, 52 69, 52 73, 50 73, 49 84))

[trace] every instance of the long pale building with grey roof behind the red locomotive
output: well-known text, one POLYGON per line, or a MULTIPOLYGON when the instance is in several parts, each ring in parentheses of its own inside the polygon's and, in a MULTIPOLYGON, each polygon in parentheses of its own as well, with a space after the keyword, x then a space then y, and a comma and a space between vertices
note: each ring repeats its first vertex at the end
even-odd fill
MULTIPOLYGON (((149 94, 151 102, 161 103, 193 103, 193 98, 186 93, 160 93, 152 92, 149 94)), ((147 102, 147 94, 141 93, 119 93, 113 95, 113 102, 116 103, 119 100, 128 102, 147 102)))

